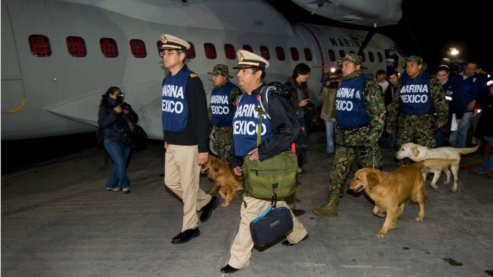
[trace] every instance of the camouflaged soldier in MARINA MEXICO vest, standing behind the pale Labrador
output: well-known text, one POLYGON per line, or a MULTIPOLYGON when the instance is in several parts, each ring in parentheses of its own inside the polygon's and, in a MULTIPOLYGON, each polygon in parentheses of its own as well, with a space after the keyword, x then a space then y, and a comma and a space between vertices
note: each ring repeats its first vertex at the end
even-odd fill
MULTIPOLYGON (((414 142, 435 147, 435 131, 447 123, 449 106, 445 92, 434 74, 424 72, 423 59, 411 56, 403 62, 397 94, 388 106, 387 126, 397 121, 397 145, 414 142), (436 115, 433 115, 433 113, 436 115)), ((387 127, 387 132, 393 132, 387 127)))

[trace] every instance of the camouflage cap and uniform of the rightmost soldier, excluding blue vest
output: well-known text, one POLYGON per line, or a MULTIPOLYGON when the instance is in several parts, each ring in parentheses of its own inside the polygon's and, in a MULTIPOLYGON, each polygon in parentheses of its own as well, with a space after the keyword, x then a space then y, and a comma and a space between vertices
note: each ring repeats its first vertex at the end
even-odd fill
MULTIPOLYGON (((417 56, 411 56, 403 62, 403 65, 407 62, 417 62, 422 64, 423 60, 417 56)), ((424 66, 421 72, 415 78, 418 78, 424 71, 424 66)), ((419 145, 427 147, 435 147, 434 132, 436 131, 438 124, 447 124, 449 106, 445 99, 445 92, 436 79, 435 75, 431 75, 430 79, 430 96, 432 101, 432 112, 436 113, 436 117, 433 114, 425 115, 406 115, 400 114, 401 97, 397 94, 392 102, 388 105, 387 126, 394 126, 398 124, 399 132, 397 133, 397 145, 403 145, 404 143, 414 142, 419 145)), ((397 91, 401 91, 403 84, 399 83, 397 91)))

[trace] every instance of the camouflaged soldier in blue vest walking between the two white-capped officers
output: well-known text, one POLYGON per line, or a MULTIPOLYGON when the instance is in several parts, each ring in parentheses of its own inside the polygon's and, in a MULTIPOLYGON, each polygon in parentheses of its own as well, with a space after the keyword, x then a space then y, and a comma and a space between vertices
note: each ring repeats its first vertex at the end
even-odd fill
MULTIPOLYGON (((233 135, 231 120, 236 99, 241 95, 241 90, 229 81, 233 76, 229 75, 226 65, 215 65, 212 72, 212 82, 215 88, 211 93, 211 107, 209 108, 209 118, 213 123, 211 138, 211 150, 223 161, 229 161, 231 149, 231 138, 233 135)), ((207 193, 216 195, 219 185, 207 193)))

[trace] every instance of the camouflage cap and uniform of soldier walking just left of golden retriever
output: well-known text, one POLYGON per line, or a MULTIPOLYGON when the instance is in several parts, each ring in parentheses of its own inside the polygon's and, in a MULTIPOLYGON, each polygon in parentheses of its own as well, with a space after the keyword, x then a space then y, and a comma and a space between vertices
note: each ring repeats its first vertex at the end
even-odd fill
MULTIPOLYGON (((347 54, 344 60, 361 65, 361 57, 356 54, 347 54)), ((358 70, 348 74, 343 80, 350 80, 362 74, 363 72, 358 70)), ((378 140, 383 132, 386 112, 380 86, 375 81, 367 79, 362 96, 370 118, 369 125, 349 130, 336 128, 336 149, 330 173, 329 199, 324 206, 313 209, 316 214, 337 215, 339 198, 342 196, 349 172, 356 160, 359 160, 363 167, 382 167, 383 158, 378 147, 378 140)))

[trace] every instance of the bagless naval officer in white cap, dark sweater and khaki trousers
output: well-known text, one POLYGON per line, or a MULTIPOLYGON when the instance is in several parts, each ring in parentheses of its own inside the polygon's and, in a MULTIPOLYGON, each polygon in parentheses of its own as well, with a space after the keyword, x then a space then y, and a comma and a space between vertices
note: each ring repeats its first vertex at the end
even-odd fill
POLYGON ((190 44, 169 34, 161 35, 164 66, 162 110, 165 170, 164 182, 183 201, 181 232, 171 243, 185 243, 200 235, 201 221, 211 216, 218 204, 215 196, 199 187, 201 165, 207 162, 209 122, 204 86, 199 76, 185 65, 190 44))

